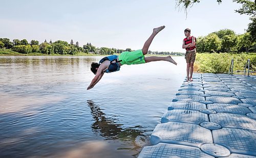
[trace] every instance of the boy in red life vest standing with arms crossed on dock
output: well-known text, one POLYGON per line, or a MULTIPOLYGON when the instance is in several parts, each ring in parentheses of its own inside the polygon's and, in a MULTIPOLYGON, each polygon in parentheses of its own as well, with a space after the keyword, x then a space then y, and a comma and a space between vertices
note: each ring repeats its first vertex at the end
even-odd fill
POLYGON ((185 29, 186 38, 183 39, 182 48, 186 49, 185 59, 187 62, 187 82, 193 81, 192 75, 194 71, 194 62, 196 60, 196 37, 190 36, 190 29, 185 29), (189 77, 190 70, 190 77, 189 77))

